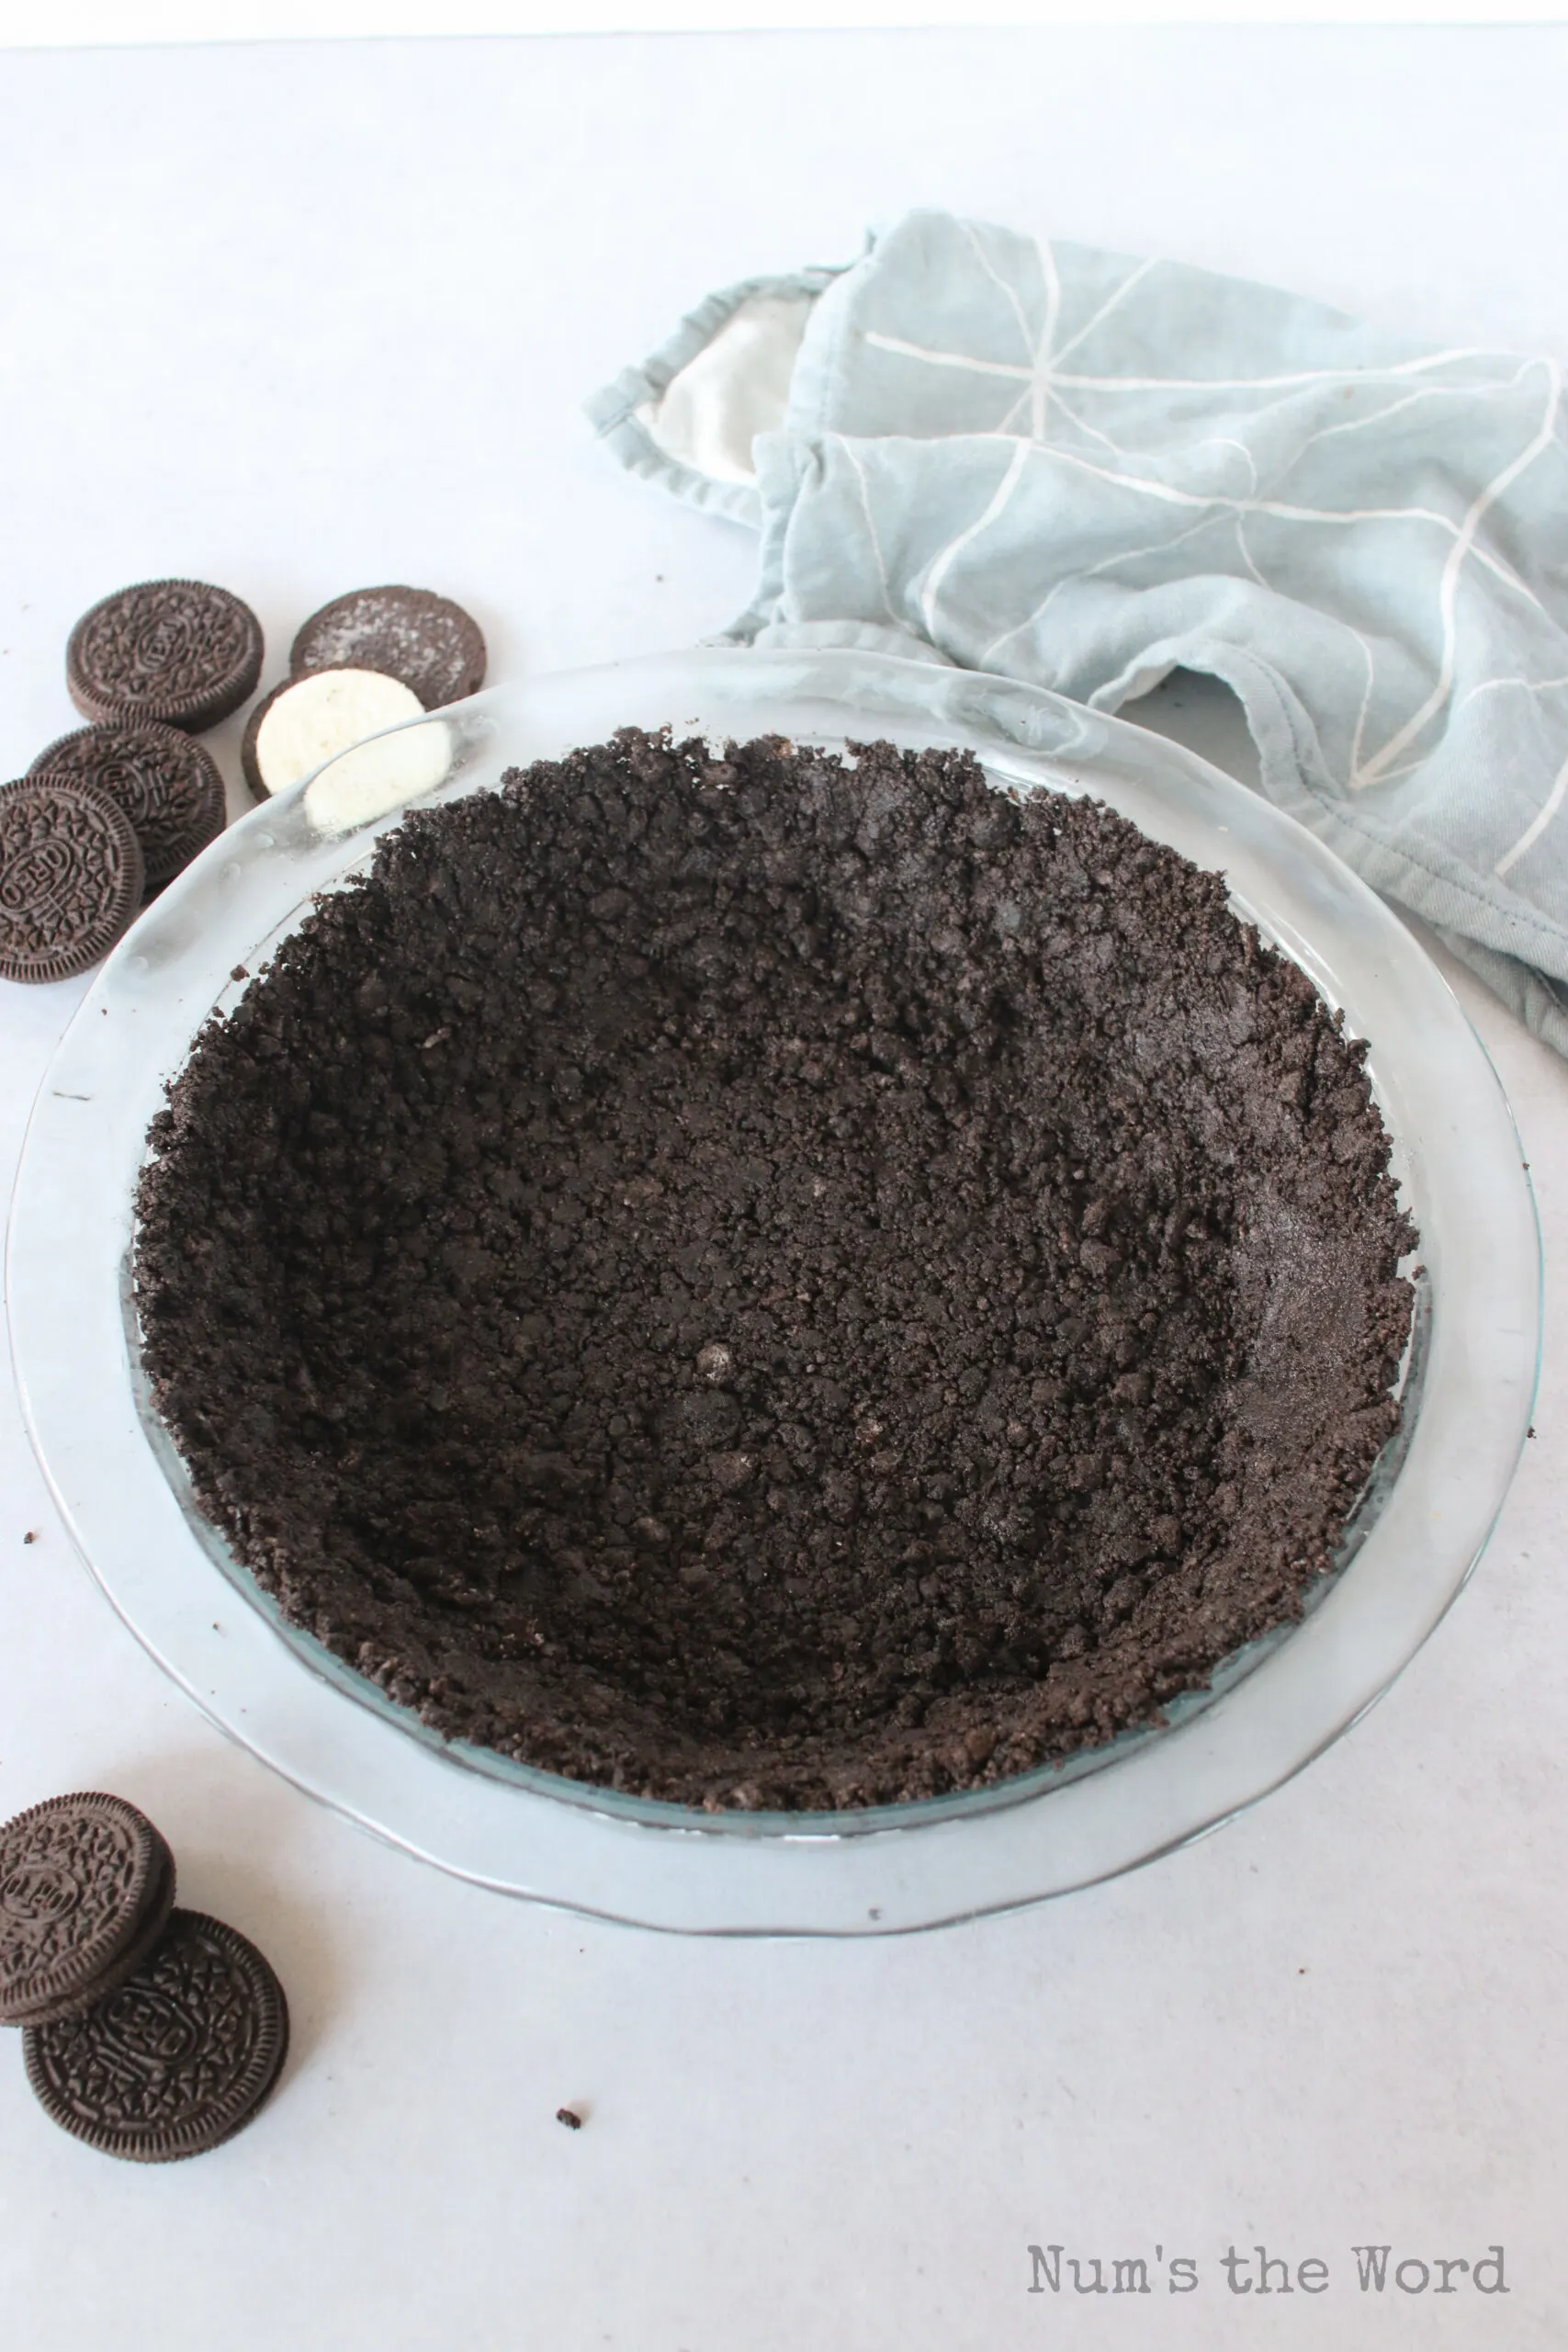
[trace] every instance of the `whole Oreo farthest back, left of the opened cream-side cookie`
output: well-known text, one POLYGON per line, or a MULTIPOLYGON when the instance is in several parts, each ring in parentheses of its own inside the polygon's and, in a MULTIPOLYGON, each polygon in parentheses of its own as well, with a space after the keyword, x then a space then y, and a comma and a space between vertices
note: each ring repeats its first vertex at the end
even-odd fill
POLYGON ((66 687, 89 720, 158 720, 200 731, 261 677, 261 621, 207 581, 139 581, 71 630, 66 687))

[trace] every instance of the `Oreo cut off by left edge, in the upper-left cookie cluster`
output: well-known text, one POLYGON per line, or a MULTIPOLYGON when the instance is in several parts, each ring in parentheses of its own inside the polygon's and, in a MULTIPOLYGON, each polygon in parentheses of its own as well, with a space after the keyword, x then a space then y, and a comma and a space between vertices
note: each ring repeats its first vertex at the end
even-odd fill
POLYGON ((68 981, 108 955, 141 906, 125 809, 80 776, 0 786, 0 978, 68 981))

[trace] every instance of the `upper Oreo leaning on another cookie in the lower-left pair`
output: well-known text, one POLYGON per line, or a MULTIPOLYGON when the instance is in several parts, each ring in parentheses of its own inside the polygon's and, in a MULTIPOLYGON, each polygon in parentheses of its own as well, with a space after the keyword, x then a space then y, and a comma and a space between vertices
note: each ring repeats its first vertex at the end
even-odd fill
POLYGON ((174 1856, 125 1797, 49 1797, 0 1828, 0 2025, 80 2016, 141 1966, 174 1856))

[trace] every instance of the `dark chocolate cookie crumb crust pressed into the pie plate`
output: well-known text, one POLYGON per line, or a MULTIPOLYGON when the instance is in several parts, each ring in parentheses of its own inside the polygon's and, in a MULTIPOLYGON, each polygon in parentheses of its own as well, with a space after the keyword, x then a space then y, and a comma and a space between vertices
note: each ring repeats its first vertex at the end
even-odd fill
POLYGON ((1363 1049, 1220 877, 959 753, 625 731, 409 814, 150 1145, 202 1510, 604 1788, 860 1806, 1150 1722, 1399 1418, 1363 1049))

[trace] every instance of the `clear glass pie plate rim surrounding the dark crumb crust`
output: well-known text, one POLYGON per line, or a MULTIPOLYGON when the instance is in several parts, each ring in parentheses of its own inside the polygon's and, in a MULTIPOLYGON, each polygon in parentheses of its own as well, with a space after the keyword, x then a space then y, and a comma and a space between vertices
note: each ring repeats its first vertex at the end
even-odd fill
POLYGON ((698 652, 503 687, 343 755, 223 833, 136 922, 45 1075, 7 1244, 28 1432, 82 1559, 233 1738, 409 1853, 503 1893, 693 1933, 886 1933, 1058 1896, 1279 1788, 1387 1689, 1474 1566, 1530 1421, 1540 1237, 1460 1007, 1321 842, 1192 753, 1048 694, 851 652, 698 652), (190 1501, 139 1371, 132 1197, 165 1082, 397 809, 616 727, 971 746, 1004 786, 1093 793, 1199 866, 1371 1042, 1420 1228, 1399 1437, 1300 1623, 1168 1722, 999 1788, 860 1813, 698 1813, 444 1743, 292 1628, 190 1501), (414 741, 411 741, 414 739, 414 741), (353 762, 353 767, 350 767, 353 762), (444 781, 433 786, 433 779, 444 781))

